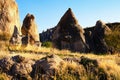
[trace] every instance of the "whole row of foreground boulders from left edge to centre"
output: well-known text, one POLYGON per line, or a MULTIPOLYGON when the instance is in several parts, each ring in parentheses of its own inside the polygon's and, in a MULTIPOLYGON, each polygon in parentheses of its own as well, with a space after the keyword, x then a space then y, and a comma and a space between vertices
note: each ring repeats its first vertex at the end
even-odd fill
POLYGON ((1 59, 0 69, 11 76, 10 80, 51 80, 63 63, 57 55, 50 55, 36 62, 16 55, 1 59))

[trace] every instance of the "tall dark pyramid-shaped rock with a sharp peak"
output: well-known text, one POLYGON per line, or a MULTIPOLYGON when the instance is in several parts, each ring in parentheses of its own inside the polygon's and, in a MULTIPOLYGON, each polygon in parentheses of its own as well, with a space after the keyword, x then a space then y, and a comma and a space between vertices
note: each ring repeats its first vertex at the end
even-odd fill
POLYGON ((69 8, 53 33, 53 46, 58 49, 86 52, 87 45, 83 34, 84 30, 69 8))

